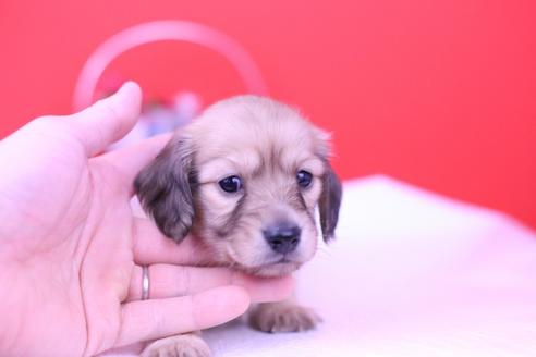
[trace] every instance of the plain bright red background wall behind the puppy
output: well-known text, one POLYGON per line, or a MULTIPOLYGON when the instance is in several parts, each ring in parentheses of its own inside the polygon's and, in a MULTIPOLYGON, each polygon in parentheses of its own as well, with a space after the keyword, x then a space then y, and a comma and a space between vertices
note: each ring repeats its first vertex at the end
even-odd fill
MULTIPOLYGON (((387 173, 536 226, 536 1, 0 2, 0 137, 71 111, 77 74, 114 33, 196 21, 239 40, 276 98, 334 132, 343 177, 387 173)), ((192 45, 150 45, 110 71, 149 95, 243 90, 192 45)))

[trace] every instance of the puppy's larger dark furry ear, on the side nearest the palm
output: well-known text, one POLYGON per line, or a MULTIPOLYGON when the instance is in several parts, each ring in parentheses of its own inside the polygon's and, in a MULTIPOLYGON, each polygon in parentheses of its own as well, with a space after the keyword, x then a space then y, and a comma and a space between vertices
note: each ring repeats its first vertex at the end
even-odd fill
POLYGON ((134 182, 145 211, 165 235, 176 242, 181 242, 192 226, 193 185, 192 145, 181 137, 173 137, 134 182))

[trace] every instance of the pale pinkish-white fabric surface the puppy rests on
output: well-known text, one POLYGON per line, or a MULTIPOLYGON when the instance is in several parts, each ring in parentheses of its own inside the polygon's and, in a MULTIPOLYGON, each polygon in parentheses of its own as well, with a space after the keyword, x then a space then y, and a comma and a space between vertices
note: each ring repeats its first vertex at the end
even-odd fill
POLYGON ((338 239, 299 273, 325 322, 211 329, 216 356, 536 356, 535 232, 385 176, 344 188, 338 239))

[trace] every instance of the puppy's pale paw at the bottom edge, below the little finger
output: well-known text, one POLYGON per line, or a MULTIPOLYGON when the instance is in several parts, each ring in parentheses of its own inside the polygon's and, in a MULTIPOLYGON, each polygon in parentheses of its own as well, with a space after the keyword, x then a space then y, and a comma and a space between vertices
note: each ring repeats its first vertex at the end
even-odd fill
POLYGON ((181 334, 149 344, 141 357, 210 357, 207 343, 194 333, 181 334))

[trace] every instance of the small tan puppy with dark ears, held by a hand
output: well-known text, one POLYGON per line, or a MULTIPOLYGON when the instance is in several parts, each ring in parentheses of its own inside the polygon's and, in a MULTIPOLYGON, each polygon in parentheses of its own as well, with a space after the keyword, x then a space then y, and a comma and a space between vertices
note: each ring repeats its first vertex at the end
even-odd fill
MULTIPOLYGON (((290 107, 241 96, 209 107, 181 130, 135 181, 160 231, 180 243, 191 233, 214 261, 249 274, 289 274, 333 237, 341 184, 329 135, 290 107)), ((259 304, 251 324, 266 332, 313 329, 317 316, 289 300, 259 304)), ((150 344, 143 356, 209 356, 198 334, 150 344)))

